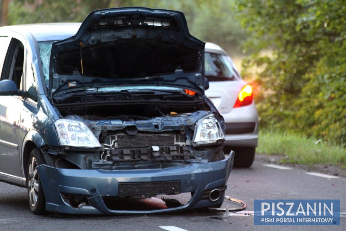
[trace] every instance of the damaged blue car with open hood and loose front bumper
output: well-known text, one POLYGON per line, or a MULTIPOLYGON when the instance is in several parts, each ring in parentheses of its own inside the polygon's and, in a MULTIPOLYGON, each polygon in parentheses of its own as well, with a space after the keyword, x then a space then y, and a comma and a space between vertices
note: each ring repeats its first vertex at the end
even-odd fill
POLYGON ((0 180, 34 214, 221 206, 234 154, 181 12, 97 10, 1 27, 0 44, 0 180))

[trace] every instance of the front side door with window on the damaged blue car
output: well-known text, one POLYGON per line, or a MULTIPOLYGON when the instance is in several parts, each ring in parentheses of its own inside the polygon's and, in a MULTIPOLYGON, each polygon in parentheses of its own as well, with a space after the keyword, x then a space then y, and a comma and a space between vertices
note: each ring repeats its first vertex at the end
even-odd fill
MULTIPOLYGON (((1 80, 9 79, 23 89, 25 72, 25 40, 18 36, 0 35, 1 80)), ((19 130, 22 96, 0 96, 0 179, 17 183, 23 179, 19 130)))

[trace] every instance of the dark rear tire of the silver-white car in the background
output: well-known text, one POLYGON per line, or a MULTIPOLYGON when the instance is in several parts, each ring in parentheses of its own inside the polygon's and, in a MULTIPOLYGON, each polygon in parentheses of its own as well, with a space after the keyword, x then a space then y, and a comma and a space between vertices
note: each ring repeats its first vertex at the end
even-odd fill
POLYGON ((237 147, 237 148, 224 148, 228 153, 233 150, 234 162, 233 166, 237 168, 250 168, 255 159, 256 148, 253 147, 237 147))

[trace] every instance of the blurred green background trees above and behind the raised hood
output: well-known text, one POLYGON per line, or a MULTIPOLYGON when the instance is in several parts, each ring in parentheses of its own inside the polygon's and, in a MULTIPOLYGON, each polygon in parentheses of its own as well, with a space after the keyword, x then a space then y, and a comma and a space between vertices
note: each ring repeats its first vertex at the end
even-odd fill
MULTIPOLYGON (((214 42, 230 53, 240 53, 245 30, 233 14, 233 0, 0 0, 7 1, 8 24, 81 22, 93 10, 142 6, 184 12, 190 33, 214 42)), ((1 5, 0 5, 1 6, 1 5)))

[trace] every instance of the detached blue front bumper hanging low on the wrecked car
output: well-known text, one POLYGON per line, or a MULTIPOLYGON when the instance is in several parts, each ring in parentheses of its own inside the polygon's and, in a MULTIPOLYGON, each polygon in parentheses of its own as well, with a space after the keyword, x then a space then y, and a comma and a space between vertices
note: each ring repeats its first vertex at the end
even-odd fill
POLYGON ((225 186, 233 167, 234 153, 227 159, 209 163, 191 163, 183 167, 148 170, 77 170, 40 165, 37 167, 46 199, 46 210, 67 214, 156 214, 221 204, 203 196, 206 190, 225 186), (110 210, 102 196, 118 196, 119 183, 180 181, 181 193, 194 192, 188 204, 160 210, 110 210), (62 193, 84 195, 91 206, 74 208, 64 202, 62 193), (203 197, 202 197, 203 196, 203 197), (201 199, 202 197, 202 199, 201 199))

